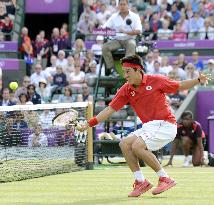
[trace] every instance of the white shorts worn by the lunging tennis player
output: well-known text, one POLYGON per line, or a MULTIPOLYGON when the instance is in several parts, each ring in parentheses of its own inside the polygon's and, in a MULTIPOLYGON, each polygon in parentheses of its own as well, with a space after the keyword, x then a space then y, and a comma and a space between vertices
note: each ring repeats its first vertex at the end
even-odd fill
POLYGON ((131 134, 141 137, 148 150, 156 151, 175 139, 177 125, 164 120, 153 120, 144 123, 142 128, 131 134))

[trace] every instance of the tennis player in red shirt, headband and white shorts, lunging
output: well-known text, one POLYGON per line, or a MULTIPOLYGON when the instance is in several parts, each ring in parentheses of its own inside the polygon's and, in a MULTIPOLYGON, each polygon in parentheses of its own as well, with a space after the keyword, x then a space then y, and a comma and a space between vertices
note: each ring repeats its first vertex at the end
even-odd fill
POLYGON ((142 159, 157 173, 159 182, 152 194, 160 194, 176 185, 152 153, 173 141, 177 133, 176 119, 165 94, 186 90, 200 83, 206 84, 209 76, 200 74, 196 79, 178 82, 162 75, 144 74, 142 59, 137 55, 124 57, 121 63, 127 83, 118 90, 108 107, 90 119, 88 124, 81 125, 81 130, 96 126, 129 103, 143 126, 120 142, 122 153, 135 178, 134 189, 128 196, 138 197, 152 188, 140 170, 138 159, 142 159))

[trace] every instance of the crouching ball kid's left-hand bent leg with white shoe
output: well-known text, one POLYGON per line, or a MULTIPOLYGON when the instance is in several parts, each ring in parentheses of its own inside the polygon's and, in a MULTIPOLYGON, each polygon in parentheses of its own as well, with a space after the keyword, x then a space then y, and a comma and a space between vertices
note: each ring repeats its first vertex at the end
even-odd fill
POLYGON ((192 140, 188 136, 184 136, 181 138, 181 145, 184 153, 184 167, 188 167, 190 165, 190 150, 191 147, 193 146, 192 140))

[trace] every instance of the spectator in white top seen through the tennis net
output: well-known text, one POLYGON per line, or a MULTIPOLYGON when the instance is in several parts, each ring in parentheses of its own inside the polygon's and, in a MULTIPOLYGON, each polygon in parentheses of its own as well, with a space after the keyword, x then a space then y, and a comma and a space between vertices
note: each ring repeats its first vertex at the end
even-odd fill
POLYGON ((42 132, 42 125, 36 124, 34 126, 34 133, 28 137, 28 147, 47 147, 48 138, 42 132))

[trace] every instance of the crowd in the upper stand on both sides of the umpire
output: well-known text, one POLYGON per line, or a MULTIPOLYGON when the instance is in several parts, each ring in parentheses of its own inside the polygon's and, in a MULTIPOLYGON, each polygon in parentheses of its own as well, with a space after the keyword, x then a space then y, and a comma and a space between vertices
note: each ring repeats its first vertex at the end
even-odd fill
MULTIPOLYGON (((77 30, 80 37, 102 27, 117 12, 116 0, 83 1, 77 30), (84 26, 88 25, 88 26, 84 26)), ((214 39, 214 4, 208 0, 132 0, 146 40, 214 39)), ((89 37, 90 38, 90 37, 89 37)))

